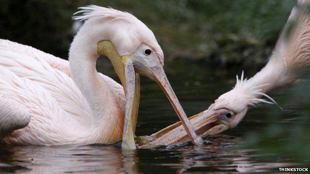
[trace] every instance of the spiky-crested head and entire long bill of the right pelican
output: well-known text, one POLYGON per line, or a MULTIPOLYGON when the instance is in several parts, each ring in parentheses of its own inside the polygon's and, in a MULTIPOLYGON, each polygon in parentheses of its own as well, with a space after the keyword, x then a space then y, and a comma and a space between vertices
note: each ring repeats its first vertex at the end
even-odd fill
MULTIPOLYGON (((200 137, 221 133, 235 127, 245 116, 250 106, 257 103, 276 104, 276 102, 262 92, 265 85, 256 85, 251 79, 238 79, 233 90, 221 95, 208 110, 189 117, 195 132, 200 137), (271 102, 260 99, 265 96, 271 102)), ((155 148, 161 145, 173 145, 189 140, 180 122, 174 123, 151 136, 138 137, 141 148, 155 148)))

